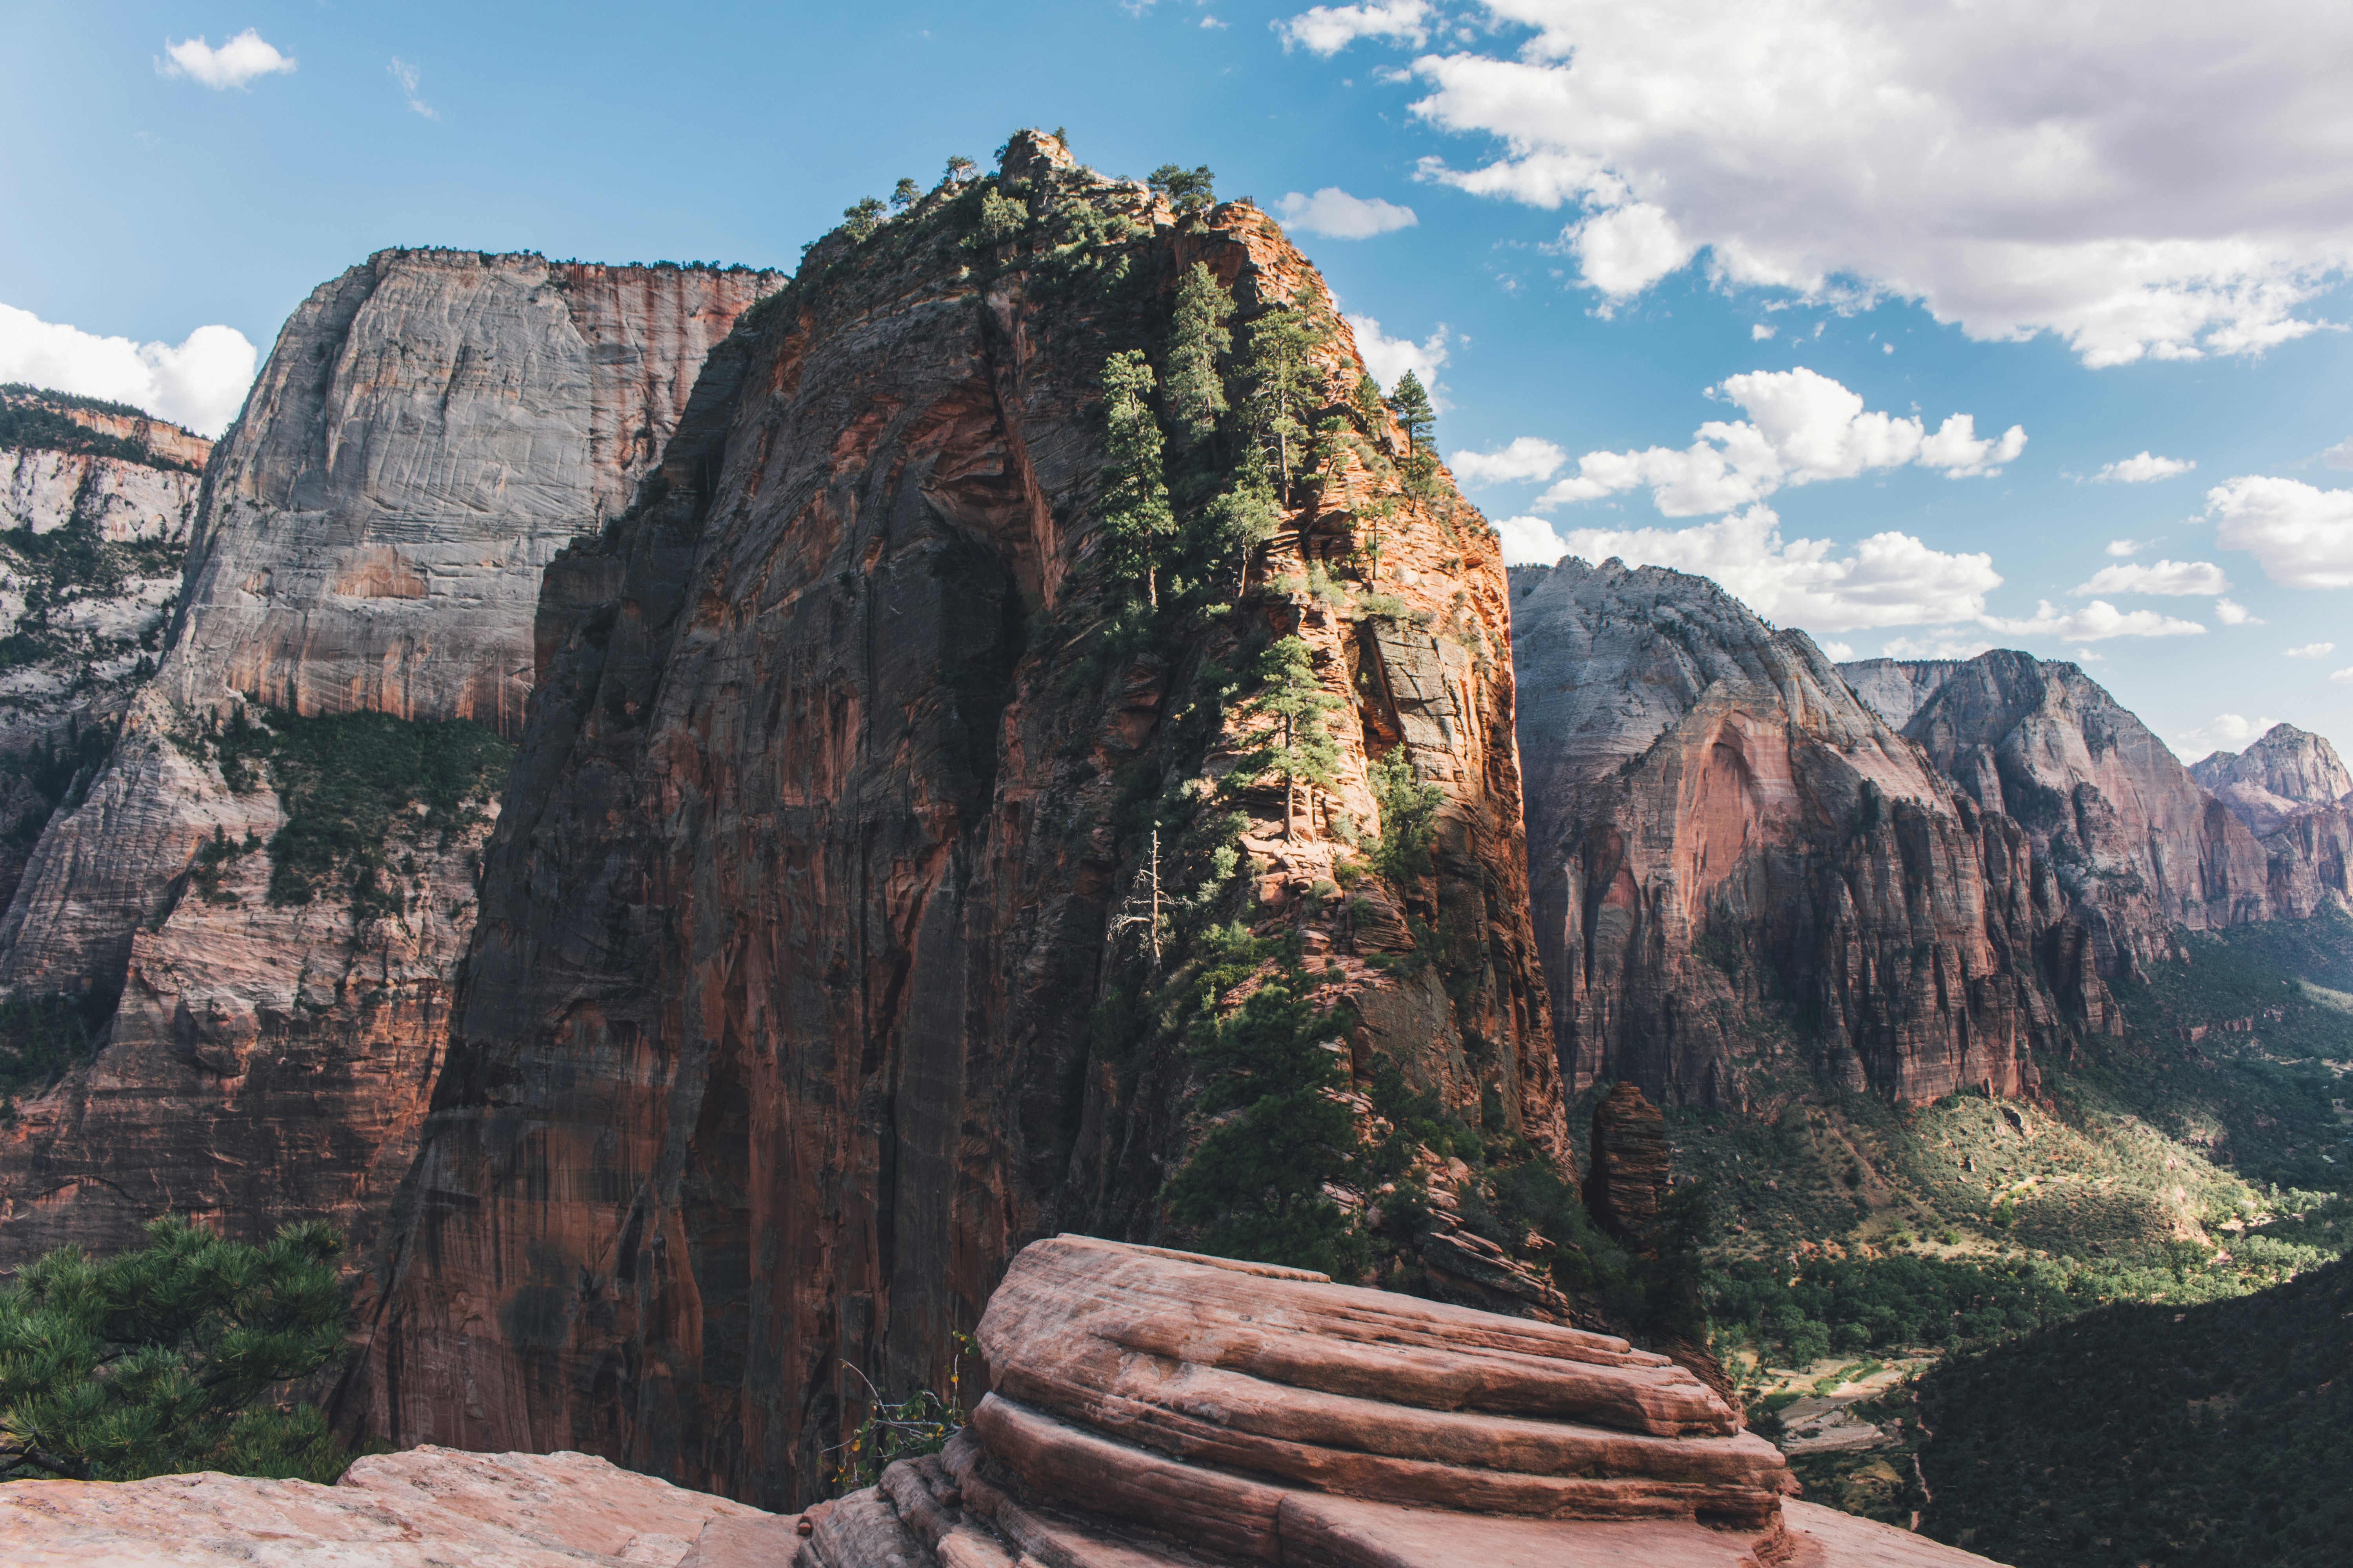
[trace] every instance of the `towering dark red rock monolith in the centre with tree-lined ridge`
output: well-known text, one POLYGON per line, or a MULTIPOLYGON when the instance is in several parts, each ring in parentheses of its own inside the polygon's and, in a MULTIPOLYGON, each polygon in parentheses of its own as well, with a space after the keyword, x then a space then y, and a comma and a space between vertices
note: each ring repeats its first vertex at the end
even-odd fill
POLYGON ((1245 929, 1299 945, 1360 1070, 1565 1147, 1497 543, 1442 470, 1407 494, 1374 461, 1402 440, 1360 378, 1271 221, 1176 219, 1052 139, 809 254, 645 503, 548 571, 346 1408, 402 1443, 812 1495, 864 1401, 845 1361, 941 1375, 1026 1239, 1181 1239, 1160 1187, 1195 1067, 1139 997, 1245 929), (1101 376, 1193 261, 1245 339, 1278 306, 1320 320, 1308 425, 1360 423, 1247 585, 1172 567, 1198 609, 1151 621, 1113 583, 1101 376), (1289 832, 1280 790, 1219 783, 1280 635, 1337 705, 1289 832), (1400 748, 1438 799, 1428 870, 1344 900, 1400 748))

